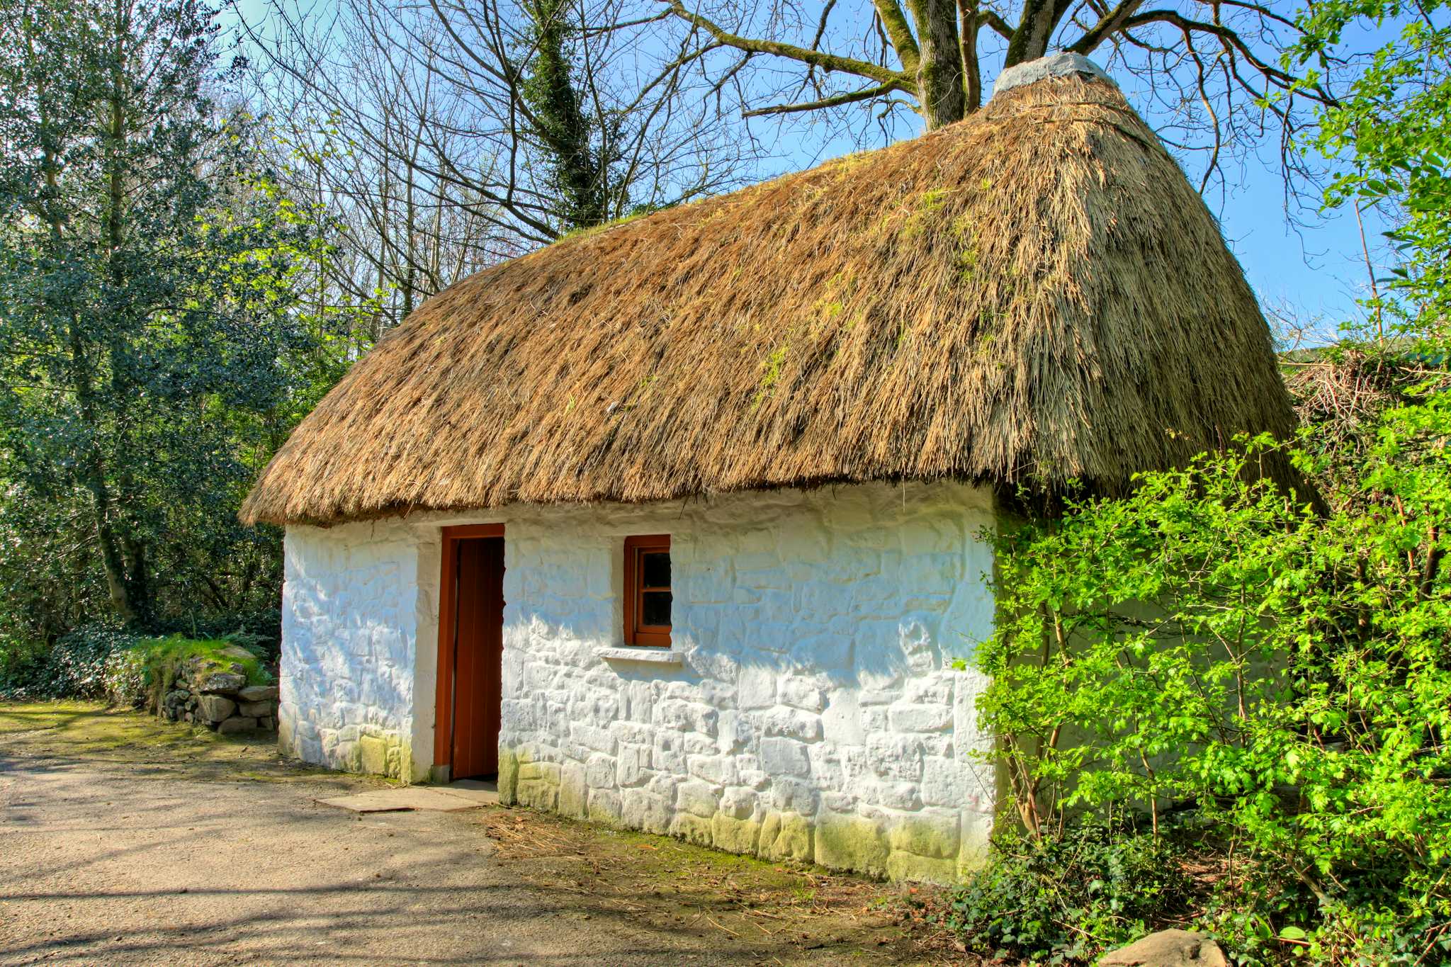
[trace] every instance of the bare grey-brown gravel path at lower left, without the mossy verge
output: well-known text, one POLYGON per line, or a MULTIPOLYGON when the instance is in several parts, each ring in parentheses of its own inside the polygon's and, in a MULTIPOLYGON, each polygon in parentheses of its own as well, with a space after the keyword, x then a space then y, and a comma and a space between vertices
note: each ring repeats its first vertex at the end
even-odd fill
POLYGON ((313 802, 361 787, 0 744, 0 964, 901 963, 683 931, 521 881, 473 812, 313 802))

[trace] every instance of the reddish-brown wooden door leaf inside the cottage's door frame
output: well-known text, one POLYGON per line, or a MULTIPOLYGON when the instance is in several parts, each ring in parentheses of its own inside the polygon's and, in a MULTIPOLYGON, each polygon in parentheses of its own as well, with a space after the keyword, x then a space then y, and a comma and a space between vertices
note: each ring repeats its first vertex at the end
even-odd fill
POLYGON ((503 538, 457 541, 453 777, 499 771, 503 658, 503 538))

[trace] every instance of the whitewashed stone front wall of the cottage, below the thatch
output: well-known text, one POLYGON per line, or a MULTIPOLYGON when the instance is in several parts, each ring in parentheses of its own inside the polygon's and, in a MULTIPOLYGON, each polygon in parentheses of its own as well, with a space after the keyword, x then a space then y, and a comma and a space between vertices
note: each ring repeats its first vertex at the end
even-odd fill
POLYGON ((502 522, 506 797, 734 851, 907 879, 978 861, 969 757, 992 626, 991 496, 959 484, 506 507, 289 528, 284 748, 421 777, 440 526, 502 522), (622 538, 670 534, 681 665, 621 647, 622 538), (374 738, 376 736, 376 738, 374 738))

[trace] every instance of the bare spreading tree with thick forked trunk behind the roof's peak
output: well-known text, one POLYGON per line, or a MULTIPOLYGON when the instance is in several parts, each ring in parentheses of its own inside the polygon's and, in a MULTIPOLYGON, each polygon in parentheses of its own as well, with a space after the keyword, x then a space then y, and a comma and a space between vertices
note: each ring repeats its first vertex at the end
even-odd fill
POLYGON ((995 65, 1061 49, 1142 78, 1146 100, 1177 119, 1161 133, 1203 148, 1213 167, 1235 136, 1258 136, 1267 119, 1293 126, 1297 100, 1329 99, 1280 64, 1294 22, 1252 0, 659 1, 710 41, 699 49, 712 75, 755 68, 739 86, 747 116, 865 106, 940 128, 982 106, 995 65))

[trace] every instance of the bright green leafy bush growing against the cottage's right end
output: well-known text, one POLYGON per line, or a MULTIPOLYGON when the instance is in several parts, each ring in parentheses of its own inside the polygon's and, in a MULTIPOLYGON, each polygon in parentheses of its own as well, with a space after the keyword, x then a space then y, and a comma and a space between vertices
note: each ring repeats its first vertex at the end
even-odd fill
MULTIPOLYGON (((1164 839, 1191 812, 1233 870, 1178 916, 1241 963, 1451 954, 1448 441, 1431 391, 1371 426, 1329 513, 1254 473, 1281 447, 1261 438, 995 536, 998 628, 974 664, 1022 835, 1046 855, 1132 805, 1164 839)), ((1019 951, 1110 942, 1091 906, 1058 919, 1019 951)))

